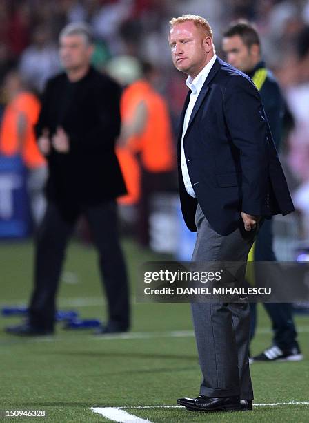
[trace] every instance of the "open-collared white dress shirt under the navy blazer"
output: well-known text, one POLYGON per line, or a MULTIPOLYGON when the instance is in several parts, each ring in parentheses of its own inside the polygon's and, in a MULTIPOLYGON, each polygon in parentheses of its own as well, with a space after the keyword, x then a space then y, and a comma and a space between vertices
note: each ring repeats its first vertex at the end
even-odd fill
POLYGON ((182 138, 181 138, 181 171, 182 171, 182 177, 183 177, 183 182, 184 182, 186 191, 192 197, 196 197, 196 196, 195 196, 195 191, 193 190, 190 176, 188 173, 185 151, 183 149, 183 139, 185 138, 186 131, 188 129, 188 124, 190 121, 190 116, 195 106, 195 102, 197 101, 197 97, 199 97, 201 88, 204 82, 206 81, 206 78, 208 77, 208 73, 210 73, 210 69, 212 68, 212 65, 215 63, 216 59, 217 59, 217 56, 214 55, 214 57, 212 57, 210 62, 206 64, 205 68, 201 70, 201 72, 199 73, 199 75, 195 77, 195 79, 192 79, 192 77, 189 76, 186 80, 186 85, 190 88, 192 93, 190 94, 190 102, 186 110, 185 118, 183 119, 183 130, 182 130, 182 138))

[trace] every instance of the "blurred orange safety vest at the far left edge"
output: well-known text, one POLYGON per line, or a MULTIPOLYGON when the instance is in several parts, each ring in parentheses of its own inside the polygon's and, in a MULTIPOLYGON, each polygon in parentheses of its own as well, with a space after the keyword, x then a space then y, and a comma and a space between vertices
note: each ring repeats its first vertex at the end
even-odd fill
POLYGON ((39 117, 40 104, 31 93, 22 92, 4 110, 0 129, 0 153, 5 156, 21 154, 28 169, 36 169, 46 163, 35 140, 33 126, 39 117), (26 115, 26 135, 22 146, 18 145, 17 121, 19 113, 26 115))

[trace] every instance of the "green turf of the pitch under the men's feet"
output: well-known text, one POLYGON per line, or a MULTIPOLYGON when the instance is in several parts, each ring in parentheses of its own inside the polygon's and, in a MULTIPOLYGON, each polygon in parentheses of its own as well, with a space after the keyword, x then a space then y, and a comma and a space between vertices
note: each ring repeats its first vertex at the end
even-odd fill
MULTIPOLYGON (((130 280, 137 267, 164 259, 124 241, 130 280)), ((1 243, 1 305, 26 303, 32 288, 32 244, 1 243)), ((65 275, 75 283, 61 283, 59 308, 79 311, 81 317, 105 313, 97 257, 92 248, 72 244, 65 275), (69 300, 86 299, 88 305, 68 306, 69 300), (94 304, 94 305, 93 305, 94 304)), ((133 289, 132 289, 133 290, 133 289)), ((87 303, 86 303, 87 304, 87 303)), ((47 417, 0 417, 19 422, 108 422, 90 407, 175 406, 177 397, 198 395, 201 375, 194 337, 168 337, 174 330, 192 330, 188 304, 132 306, 132 332, 150 332, 146 339, 94 337, 92 330, 65 331, 58 323, 55 337, 21 339, 2 328, 20 321, 1 318, 0 409, 45 410, 47 417)), ((309 317, 297 316, 299 341, 306 359, 298 363, 256 363, 251 366, 255 402, 309 400, 309 317)), ((259 306, 259 326, 252 353, 270 345, 270 323, 259 306)), ((194 413, 184 408, 126 409, 151 422, 309 422, 309 407, 286 405, 256 407, 253 413, 194 413)))

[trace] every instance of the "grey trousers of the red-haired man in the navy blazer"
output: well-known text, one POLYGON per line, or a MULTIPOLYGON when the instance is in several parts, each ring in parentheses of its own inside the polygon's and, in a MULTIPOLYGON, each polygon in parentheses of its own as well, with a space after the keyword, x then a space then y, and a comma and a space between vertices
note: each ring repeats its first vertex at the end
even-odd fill
MULTIPOLYGON (((243 223, 227 236, 217 234, 197 206, 197 241, 192 261, 246 261, 257 229, 243 223)), ((243 275, 244 276, 244 275, 243 275)), ((203 374, 200 395, 253 399, 248 347, 250 307, 241 303, 192 303, 199 365, 203 374)))

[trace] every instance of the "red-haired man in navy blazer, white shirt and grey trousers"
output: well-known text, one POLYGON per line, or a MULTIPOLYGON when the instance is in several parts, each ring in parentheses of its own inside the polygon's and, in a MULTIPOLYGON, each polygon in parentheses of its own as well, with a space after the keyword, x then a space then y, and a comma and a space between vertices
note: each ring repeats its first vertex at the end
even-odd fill
MULTIPOLYGON (((179 193, 197 232, 192 261, 245 262, 259 223, 294 210, 261 97, 251 79, 215 55, 208 21, 170 21, 175 67, 190 88, 178 139, 179 193)), ((203 374, 197 411, 252 410, 248 301, 192 303, 203 374)))

